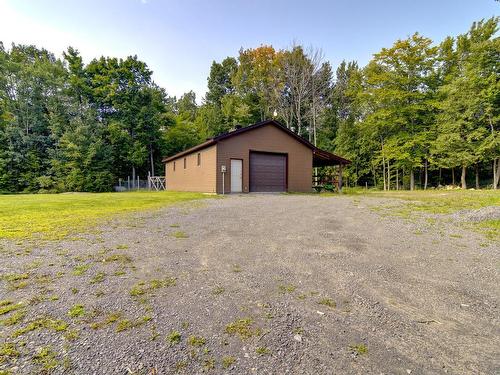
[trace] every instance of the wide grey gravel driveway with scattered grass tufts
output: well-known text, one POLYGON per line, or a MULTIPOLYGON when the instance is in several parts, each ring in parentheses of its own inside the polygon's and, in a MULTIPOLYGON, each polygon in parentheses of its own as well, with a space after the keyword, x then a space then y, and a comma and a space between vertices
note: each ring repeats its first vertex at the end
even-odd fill
POLYGON ((500 373, 498 243, 388 202, 231 196, 3 242, 0 373, 500 373))

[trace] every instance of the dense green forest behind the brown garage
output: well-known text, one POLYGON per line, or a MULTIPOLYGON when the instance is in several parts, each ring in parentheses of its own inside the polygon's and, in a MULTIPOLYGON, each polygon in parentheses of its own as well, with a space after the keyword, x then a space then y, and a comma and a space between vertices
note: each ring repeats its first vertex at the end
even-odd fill
POLYGON ((500 18, 434 43, 418 33, 334 70, 320 50, 241 49, 213 62, 208 91, 171 97, 137 57, 84 64, 0 43, 0 192, 109 191, 162 175, 162 158, 274 118, 352 160, 350 186, 389 189, 500 177, 500 18))

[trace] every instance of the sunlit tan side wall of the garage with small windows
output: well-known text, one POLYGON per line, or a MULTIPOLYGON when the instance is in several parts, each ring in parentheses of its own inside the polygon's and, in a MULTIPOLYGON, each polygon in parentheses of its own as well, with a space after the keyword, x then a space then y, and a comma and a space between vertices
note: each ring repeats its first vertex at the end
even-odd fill
POLYGON ((171 160, 165 163, 167 190, 215 193, 216 170, 217 145, 171 160), (200 165, 198 165, 198 153, 200 165), (186 158, 186 168, 184 168, 184 158, 186 158))

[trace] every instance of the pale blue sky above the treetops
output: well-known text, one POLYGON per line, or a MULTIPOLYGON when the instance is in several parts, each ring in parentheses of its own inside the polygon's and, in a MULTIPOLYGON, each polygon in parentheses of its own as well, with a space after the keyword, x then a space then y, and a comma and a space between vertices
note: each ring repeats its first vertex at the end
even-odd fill
POLYGON ((415 31, 435 42, 500 14, 495 0, 0 0, 0 41, 71 45, 85 61, 138 55, 170 95, 199 99, 213 60, 238 50, 294 42, 320 48, 334 68, 365 65, 373 53, 415 31))

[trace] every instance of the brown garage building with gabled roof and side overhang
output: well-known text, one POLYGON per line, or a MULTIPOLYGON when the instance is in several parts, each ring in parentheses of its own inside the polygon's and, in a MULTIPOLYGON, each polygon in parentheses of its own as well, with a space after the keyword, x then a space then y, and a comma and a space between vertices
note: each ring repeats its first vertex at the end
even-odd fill
POLYGON ((163 159, 167 190, 310 192, 313 167, 350 163, 274 120, 213 137, 163 159))

